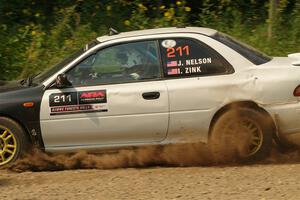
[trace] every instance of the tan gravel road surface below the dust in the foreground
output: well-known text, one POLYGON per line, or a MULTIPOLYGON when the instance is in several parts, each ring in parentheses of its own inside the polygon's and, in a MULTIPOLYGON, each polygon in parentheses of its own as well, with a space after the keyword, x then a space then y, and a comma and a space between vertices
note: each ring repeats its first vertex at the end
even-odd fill
POLYGON ((300 164, 0 171, 1 199, 300 199, 300 164))

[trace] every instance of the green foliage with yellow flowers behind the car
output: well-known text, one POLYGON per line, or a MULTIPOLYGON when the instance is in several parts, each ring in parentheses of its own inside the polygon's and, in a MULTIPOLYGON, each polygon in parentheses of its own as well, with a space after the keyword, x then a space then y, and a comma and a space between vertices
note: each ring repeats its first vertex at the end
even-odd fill
POLYGON ((206 26, 270 55, 299 52, 300 3, 277 2, 268 38, 269 0, 0 0, 0 79, 52 66, 109 27, 206 26))

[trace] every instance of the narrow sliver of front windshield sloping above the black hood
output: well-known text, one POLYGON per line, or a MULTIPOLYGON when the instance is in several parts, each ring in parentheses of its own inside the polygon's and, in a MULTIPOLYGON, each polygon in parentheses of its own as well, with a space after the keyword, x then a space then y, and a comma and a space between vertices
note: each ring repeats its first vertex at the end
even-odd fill
POLYGON ((81 54, 89 50, 90 48, 96 46, 99 44, 97 40, 93 40, 89 44, 85 45, 84 48, 80 49, 79 51, 76 51, 75 53, 71 54, 69 57, 63 59, 61 62, 58 64, 46 69, 42 73, 39 73, 34 79, 34 83, 41 83, 45 81, 47 78, 51 77, 53 74, 61 70, 63 67, 65 67, 67 64, 72 62, 75 58, 79 57, 81 54))

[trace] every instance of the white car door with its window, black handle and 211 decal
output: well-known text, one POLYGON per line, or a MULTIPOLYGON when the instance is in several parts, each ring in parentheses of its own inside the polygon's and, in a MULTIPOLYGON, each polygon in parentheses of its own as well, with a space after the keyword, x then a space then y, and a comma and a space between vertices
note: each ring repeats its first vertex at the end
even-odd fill
POLYGON ((43 96, 46 149, 162 141, 169 102, 158 55, 156 41, 120 44, 67 71, 72 87, 43 96))

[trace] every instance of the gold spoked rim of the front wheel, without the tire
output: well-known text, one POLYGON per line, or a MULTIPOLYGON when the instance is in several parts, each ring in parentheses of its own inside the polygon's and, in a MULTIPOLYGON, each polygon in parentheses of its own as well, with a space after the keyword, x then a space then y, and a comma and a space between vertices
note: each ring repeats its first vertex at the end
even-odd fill
POLYGON ((7 128, 0 126, 0 166, 9 163, 16 155, 17 140, 7 128))

